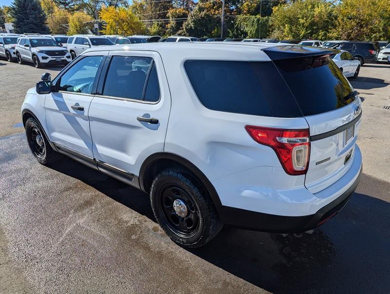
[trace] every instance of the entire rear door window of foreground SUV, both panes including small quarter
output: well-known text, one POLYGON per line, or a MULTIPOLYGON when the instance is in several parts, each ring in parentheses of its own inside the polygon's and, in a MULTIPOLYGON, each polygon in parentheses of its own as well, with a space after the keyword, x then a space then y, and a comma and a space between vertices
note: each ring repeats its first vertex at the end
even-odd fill
POLYGON ((107 72, 103 95, 157 101, 160 93, 156 68, 153 65, 153 59, 150 57, 114 56, 107 72))

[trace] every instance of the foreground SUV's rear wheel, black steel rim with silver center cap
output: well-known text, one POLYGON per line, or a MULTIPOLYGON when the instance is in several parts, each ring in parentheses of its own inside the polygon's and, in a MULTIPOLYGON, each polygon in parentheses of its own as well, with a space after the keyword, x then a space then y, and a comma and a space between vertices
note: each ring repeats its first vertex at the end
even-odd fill
POLYGON ((168 169, 158 174, 152 183, 150 201, 158 224, 180 246, 201 247, 222 229, 211 197, 186 172, 168 169))

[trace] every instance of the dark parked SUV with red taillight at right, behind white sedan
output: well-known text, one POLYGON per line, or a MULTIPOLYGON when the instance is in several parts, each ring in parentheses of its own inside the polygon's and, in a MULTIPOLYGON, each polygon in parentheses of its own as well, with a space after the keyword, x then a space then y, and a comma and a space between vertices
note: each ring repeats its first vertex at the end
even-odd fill
POLYGON ((353 57, 359 59, 361 65, 367 62, 375 62, 379 52, 378 42, 341 42, 331 48, 348 51, 353 57))

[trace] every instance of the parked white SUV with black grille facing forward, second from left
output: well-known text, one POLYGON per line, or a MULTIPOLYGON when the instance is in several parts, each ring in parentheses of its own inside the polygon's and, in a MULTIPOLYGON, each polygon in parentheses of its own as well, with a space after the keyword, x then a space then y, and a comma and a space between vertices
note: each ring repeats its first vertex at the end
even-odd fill
POLYGON ((33 62, 38 68, 48 64, 68 64, 72 61, 69 52, 49 37, 20 37, 15 51, 19 64, 33 62))

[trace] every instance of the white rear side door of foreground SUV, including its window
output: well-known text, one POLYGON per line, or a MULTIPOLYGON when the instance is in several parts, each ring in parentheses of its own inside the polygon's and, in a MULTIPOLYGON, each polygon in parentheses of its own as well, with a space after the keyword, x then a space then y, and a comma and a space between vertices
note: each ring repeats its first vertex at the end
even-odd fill
POLYGON ((93 153, 102 172, 131 181, 146 157, 164 150, 171 96, 157 53, 110 51, 109 57, 102 95, 89 110, 93 153))

